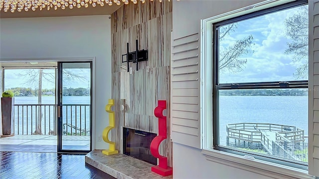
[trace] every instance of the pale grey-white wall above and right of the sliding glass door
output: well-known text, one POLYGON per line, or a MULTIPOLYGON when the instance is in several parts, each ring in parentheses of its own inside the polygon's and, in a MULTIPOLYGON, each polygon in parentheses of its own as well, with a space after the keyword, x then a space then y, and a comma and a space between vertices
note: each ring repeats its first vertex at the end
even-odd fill
MULTIPOLYGON (((108 125, 105 105, 111 98, 110 26, 109 15, 3 18, 0 59, 95 57, 95 134, 99 136, 108 125)), ((96 149, 106 147, 103 140, 95 141, 96 149)))

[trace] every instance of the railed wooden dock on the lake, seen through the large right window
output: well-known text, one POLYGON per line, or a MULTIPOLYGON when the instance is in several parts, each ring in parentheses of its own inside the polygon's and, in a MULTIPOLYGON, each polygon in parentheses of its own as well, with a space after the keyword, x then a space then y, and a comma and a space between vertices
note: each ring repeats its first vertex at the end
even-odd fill
POLYGON ((276 157, 305 160, 307 137, 305 131, 298 127, 270 123, 235 123, 228 124, 226 130, 227 146, 262 149, 276 157))

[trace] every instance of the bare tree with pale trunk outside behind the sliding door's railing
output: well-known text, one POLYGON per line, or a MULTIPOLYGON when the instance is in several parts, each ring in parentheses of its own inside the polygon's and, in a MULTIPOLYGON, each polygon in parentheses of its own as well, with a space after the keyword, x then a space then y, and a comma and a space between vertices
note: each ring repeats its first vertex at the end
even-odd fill
MULTIPOLYGON (((45 72, 43 69, 28 69, 25 70, 24 73, 18 74, 18 76, 26 78, 26 82, 23 84, 37 84, 37 94, 38 94, 38 104, 42 104, 42 82, 43 79, 46 80, 49 83, 55 82, 55 69, 45 69, 45 72)), ((84 80, 85 77, 73 73, 71 70, 63 69, 62 71, 63 76, 63 82, 71 82, 71 81, 78 81, 78 80, 84 80)), ((37 109, 37 123, 36 123, 36 130, 34 131, 34 134, 42 134, 41 124, 42 124, 42 117, 43 113, 41 110, 41 105, 38 106, 37 109)))

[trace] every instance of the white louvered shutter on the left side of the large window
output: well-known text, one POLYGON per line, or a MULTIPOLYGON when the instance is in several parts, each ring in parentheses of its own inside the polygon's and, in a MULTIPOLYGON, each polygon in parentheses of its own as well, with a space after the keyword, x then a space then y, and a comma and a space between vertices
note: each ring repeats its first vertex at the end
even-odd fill
POLYGON ((196 33, 171 40, 170 138, 200 149, 198 37, 196 33))

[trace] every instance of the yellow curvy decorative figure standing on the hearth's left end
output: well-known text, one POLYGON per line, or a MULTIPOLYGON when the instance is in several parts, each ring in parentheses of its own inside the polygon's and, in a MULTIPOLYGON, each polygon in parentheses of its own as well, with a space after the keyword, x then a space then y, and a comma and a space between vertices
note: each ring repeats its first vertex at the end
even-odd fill
POLYGON ((111 107, 114 105, 114 99, 109 99, 109 103, 105 106, 105 110, 109 113, 109 126, 107 126, 102 133, 102 138, 106 143, 110 144, 109 150, 103 150, 105 155, 113 155, 119 153, 115 150, 115 142, 109 140, 109 132, 115 127, 114 111, 111 111, 111 107))

